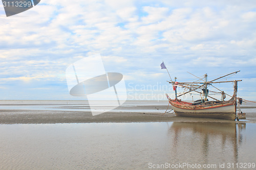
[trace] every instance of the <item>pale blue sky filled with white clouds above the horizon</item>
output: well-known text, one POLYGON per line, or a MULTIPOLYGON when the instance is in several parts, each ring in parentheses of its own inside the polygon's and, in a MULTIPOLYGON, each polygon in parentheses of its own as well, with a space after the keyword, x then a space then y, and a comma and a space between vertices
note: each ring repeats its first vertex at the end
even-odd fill
POLYGON ((223 80, 243 80, 239 96, 256 101, 256 2, 41 0, 9 17, 0 5, 0 100, 83 100, 65 71, 95 54, 123 75, 128 100, 173 96, 164 61, 180 82, 241 70, 223 80))

